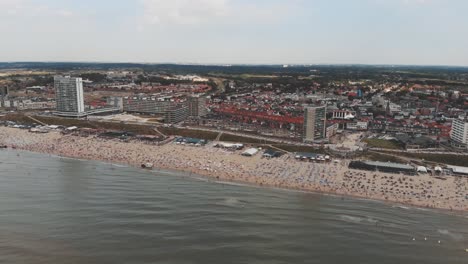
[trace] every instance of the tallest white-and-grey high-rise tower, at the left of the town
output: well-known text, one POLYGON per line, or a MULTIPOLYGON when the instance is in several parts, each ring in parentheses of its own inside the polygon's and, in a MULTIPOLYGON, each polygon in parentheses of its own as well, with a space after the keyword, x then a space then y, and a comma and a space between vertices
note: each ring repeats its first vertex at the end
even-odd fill
POLYGON ((83 114, 85 112, 83 98, 83 80, 70 76, 54 77, 57 112, 83 114))

